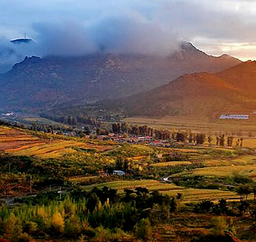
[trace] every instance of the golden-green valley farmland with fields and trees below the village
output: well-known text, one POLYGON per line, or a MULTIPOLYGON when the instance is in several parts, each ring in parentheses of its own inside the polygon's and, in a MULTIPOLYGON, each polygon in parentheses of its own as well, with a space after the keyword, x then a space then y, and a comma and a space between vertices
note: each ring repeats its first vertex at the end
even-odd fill
POLYGON ((134 228, 146 218, 156 241, 179 236, 188 242, 211 233, 211 220, 221 216, 226 224, 234 220, 241 241, 251 242, 251 217, 241 210, 243 202, 252 209, 256 178, 255 151, 247 144, 253 147, 253 138, 245 138, 243 148, 207 141, 164 148, 2 126, 0 232, 12 220, 22 226, 20 236, 35 239, 43 232, 43 239, 57 233, 77 241, 90 231, 88 241, 102 234, 110 236, 105 241, 120 241, 119 232, 128 238, 123 241, 138 241, 134 228), (114 176, 114 170, 125 175, 114 176), (245 196, 239 188, 251 190, 245 196), (34 232, 26 229, 27 220, 36 224, 34 232))

